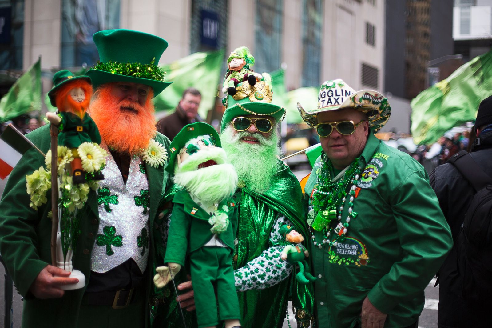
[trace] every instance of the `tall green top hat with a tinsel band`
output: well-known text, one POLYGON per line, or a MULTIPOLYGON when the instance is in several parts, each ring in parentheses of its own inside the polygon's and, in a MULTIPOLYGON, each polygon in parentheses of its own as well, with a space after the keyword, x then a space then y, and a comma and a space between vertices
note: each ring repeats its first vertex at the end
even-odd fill
POLYGON ((167 41, 148 33, 131 30, 104 30, 92 36, 100 61, 87 71, 94 89, 109 82, 133 82, 154 89, 154 97, 172 82, 164 82, 165 72, 157 66, 167 41))

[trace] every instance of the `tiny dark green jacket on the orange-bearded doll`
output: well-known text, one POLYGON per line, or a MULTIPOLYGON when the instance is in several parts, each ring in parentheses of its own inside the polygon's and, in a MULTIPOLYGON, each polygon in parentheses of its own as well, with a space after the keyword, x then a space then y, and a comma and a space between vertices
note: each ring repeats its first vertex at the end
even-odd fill
POLYGON ((92 118, 84 114, 80 119, 77 115, 69 112, 60 112, 62 122, 58 134, 58 144, 68 148, 78 148, 81 143, 101 143, 101 135, 92 118), (82 130, 82 131, 79 131, 82 130))

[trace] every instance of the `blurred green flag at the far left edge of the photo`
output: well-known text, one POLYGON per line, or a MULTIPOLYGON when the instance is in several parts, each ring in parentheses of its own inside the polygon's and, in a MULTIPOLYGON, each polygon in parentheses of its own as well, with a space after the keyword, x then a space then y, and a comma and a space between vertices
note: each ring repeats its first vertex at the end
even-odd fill
POLYGON ((33 110, 41 110, 41 58, 1 98, 0 122, 33 110))

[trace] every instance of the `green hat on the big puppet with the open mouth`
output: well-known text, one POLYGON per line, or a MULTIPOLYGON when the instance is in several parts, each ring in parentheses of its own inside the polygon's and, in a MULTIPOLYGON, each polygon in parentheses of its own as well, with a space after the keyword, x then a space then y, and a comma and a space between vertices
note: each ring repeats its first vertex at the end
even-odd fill
POLYGON ((171 155, 169 156, 169 164, 166 166, 166 171, 171 174, 174 173, 174 162, 176 161, 176 156, 178 156, 181 148, 184 147, 186 142, 190 139, 206 134, 209 134, 215 139, 215 146, 221 147, 218 133, 210 124, 195 122, 188 124, 181 129, 181 131, 174 137, 173 142, 169 145, 169 152, 171 155))

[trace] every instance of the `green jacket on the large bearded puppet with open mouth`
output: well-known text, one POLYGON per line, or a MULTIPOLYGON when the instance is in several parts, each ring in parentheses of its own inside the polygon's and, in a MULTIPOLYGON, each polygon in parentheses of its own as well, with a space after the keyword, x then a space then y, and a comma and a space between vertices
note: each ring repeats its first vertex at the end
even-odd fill
MULTIPOLYGON (((201 208, 189 193, 183 189, 173 199, 174 207, 167 239, 167 250, 164 262, 174 262, 184 265, 184 258, 203 245, 214 234, 210 231, 210 214, 201 208)), ((229 208, 229 225, 227 230, 217 235, 230 250, 234 251, 234 231, 238 226, 238 210, 232 200, 228 198, 218 204, 218 209, 226 205, 229 208)))

